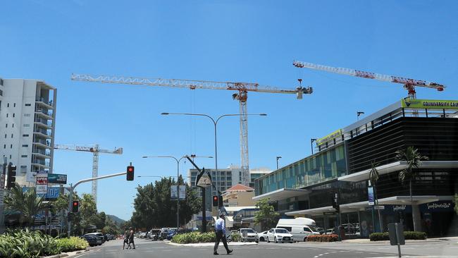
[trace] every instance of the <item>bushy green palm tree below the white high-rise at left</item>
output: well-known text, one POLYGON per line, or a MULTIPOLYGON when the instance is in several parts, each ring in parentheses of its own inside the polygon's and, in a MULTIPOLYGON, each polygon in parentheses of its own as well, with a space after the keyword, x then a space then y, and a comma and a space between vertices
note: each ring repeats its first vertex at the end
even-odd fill
POLYGON ((23 192, 18 183, 11 188, 4 202, 6 209, 20 211, 28 226, 32 226, 35 222, 35 215, 45 209, 43 198, 37 196, 35 188, 23 192))

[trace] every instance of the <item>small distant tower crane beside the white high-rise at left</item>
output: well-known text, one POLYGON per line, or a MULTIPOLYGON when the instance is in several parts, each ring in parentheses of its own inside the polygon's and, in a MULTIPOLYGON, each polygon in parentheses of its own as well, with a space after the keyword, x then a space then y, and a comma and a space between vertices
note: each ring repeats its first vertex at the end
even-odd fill
MULTIPOLYGON (((54 145, 54 149, 66 149, 76 152, 92 152, 92 178, 97 178, 99 174, 99 153, 123 154, 123 148, 115 148, 114 150, 99 149, 99 145, 54 145)), ((92 181, 92 197, 94 197, 94 202, 97 206, 97 180, 92 181)))

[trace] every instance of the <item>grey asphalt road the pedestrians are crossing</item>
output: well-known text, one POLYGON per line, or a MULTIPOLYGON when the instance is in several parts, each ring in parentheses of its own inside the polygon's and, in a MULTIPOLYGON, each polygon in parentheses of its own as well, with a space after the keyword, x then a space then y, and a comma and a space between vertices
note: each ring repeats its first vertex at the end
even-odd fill
MULTIPOLYGON (((169 245, 161 241, 136 239, 135 250, 123 250, 121 240, 111 240, 100 247, 91 247, 89 252, 80 254, 78 258, 143 258, 143 257, 177 257, 200 258, 213 256, 213 247, 182 247, 169 245)), ((352 244, 335 243, 267 243, 231 247, 234 249, 230 257, 280 257, 280 258, 357 258, 357 257, 397 257, 397 247, 380 243, 352 244)), ((225 256, 222 245, 218 249, 225 256)), ((402 246, 403 255, 439 255, 458 257, 458 245, 451 242, 407 243, 402 246)))

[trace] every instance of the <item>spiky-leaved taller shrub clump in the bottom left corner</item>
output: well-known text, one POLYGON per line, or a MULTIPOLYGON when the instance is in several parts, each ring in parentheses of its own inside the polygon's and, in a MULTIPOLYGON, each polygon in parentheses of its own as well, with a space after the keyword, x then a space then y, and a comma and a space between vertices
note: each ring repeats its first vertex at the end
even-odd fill
POLYGON ((57 241, 40 231, 8 231, 0 235, 0 257, 35 258, 60 254, 57 241))

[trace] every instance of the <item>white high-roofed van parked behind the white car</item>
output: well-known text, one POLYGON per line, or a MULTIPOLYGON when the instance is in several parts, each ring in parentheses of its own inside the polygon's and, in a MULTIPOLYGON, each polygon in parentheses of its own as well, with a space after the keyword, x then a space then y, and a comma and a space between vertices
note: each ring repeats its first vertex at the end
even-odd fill
POLYGON ((295 241, 306 241, 309 235, 320 235, 316 231, 316 223, 313 219, 295 218, 295 219, 279 219, 277 228, 285 228, 290 231, 295 241))

